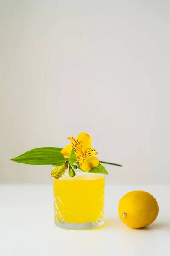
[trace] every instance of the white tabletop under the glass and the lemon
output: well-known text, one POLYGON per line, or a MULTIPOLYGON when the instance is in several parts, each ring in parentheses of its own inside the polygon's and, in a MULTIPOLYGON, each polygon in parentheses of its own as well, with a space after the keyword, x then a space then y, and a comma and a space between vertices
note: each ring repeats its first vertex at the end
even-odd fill
POLYGON ((104 227, 63 230, 54 225, 52 185, 1 185, 0 256, 170 255, 169 196, 170 186, 106 186, 104 227), (132 190, 158 201, 158 218, 147 228, 119 220, 119 200, 132 190))

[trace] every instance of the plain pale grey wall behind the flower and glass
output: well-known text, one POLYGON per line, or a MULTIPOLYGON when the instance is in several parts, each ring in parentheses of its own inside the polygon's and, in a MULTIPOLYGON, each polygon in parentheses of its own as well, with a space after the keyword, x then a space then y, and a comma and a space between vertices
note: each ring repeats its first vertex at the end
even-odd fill
POLYGON ((170 2, 0 0, 0 183, 51 183, 9 161, 86 131, 107 183, 170 183, 170 2))

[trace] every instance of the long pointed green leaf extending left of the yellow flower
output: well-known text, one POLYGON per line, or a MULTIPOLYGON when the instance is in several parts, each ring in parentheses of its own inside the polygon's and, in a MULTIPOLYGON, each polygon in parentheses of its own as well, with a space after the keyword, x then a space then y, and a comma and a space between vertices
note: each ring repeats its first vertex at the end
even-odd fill
POLYGON ((26 153, 12 158, 11 161, 33 165, 61 165, 65 158, 61 154, 62 148, 34 148, 26 153))

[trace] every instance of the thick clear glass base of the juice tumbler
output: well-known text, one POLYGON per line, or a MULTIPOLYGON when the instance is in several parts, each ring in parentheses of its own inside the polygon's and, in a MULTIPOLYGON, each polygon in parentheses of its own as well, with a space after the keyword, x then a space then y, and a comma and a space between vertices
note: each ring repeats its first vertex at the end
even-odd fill
POLYGON ((65 229, 70 229, 70 230, 87 230, 87 229, 93 229, 97 227, 102 227, 104 224, 104 220, 102 219, 101 221, 98 222, 85 222, 84 224, 79 224, 79 223, 70 223, 68 224, 67 222, 55 222, 57 227, 65 228, 65 229))

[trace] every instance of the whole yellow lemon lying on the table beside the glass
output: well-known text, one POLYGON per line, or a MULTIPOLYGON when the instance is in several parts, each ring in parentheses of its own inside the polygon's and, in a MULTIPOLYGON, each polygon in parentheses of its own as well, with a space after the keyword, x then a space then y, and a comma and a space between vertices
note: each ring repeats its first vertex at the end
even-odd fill
POLYGON ((145 191, 132 191, 119 201, 119 217, 128 227, 141 228, 151 224, 158 216, 156 199, 145 191))

